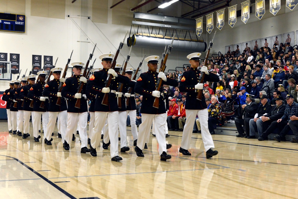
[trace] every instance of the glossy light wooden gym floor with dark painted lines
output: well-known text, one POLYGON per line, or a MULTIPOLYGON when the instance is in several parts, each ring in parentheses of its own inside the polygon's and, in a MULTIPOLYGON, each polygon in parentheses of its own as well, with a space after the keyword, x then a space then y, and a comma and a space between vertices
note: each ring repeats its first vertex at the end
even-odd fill
MULTIPOLYGON (((1 198, 298 198, 298 144, 212 135, 219 154, 206 159, 201 134, 192 134, 192 156, 179 153, 182 132, 170 131, 172 159, 160 161, 150 135, 144 158, 130 151, 111 161, 109 150, 97 157, 80 153, 76 135, 70 151, 52 136, 52 146, 31 136, 22 139, 0 122, 1 198)), ((102 143, 101 143, 102 146, 102 143)), ((119 149, 120 152, 120 149, 119 149)))

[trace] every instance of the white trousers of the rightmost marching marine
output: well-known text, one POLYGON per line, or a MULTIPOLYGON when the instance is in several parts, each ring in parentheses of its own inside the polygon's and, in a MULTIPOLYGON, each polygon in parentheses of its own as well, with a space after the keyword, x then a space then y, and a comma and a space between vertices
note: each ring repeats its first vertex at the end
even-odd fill
POLYGON ((214 143, 212 136, 208 129, 208 109, 202 110, 191 110, 186 109, 186 121, 183 128, 181 148, 188 150, 190 147, 190 141, 192 139, 192 129, 194 127, 194 120, 198 115, 200 125, 201 125, 201 134, 204 143, 205 150, 214 149, 214 143))

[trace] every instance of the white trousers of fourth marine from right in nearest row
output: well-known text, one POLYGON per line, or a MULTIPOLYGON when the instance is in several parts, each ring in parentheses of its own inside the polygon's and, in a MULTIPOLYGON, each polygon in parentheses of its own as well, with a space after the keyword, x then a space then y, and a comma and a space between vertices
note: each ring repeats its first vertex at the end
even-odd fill
POLYGON ((67 144, 71 144, 72 134, 75 132, 75 129, 78 127, 80 139, 81 139, 81 148, 88 146, 88 136, 87 136, 87 120, 88 112, 82 113, 67 113, 67 129, 65 134, 65 141, 67 144))

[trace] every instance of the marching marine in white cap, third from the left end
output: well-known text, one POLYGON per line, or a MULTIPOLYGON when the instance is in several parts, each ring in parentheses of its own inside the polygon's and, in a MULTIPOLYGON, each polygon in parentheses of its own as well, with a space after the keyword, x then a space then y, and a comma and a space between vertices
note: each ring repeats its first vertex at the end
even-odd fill
POLYGON ((21 86, 16 89, 16 93, 15 93, 15 100, 17 101, 17 108, 18 108, 18 113, 17 113, 18 136, 23 135, 22 131, 24 126, 24 111, 22 107, 23 99, 20 98, 20 93, 23 87, 26 86, 27 78, 20 78, 20 81, 21 81, 21 86))

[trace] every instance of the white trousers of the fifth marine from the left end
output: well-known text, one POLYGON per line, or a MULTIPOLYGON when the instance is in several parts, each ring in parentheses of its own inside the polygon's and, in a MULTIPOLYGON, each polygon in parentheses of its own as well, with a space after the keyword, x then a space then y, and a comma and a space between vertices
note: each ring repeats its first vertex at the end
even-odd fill
MULTIPOLYGON (((42 115, 42 130, 44 131, 44 137, 47 134, 47 124, 49 123, 49 112, 33 111, 33 136, 38 137, 39 125, 41 124, 42 115)), ((52 133, 52 132, 51 132, 52 133)))

